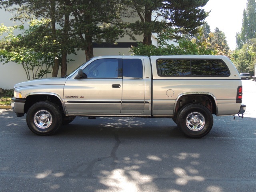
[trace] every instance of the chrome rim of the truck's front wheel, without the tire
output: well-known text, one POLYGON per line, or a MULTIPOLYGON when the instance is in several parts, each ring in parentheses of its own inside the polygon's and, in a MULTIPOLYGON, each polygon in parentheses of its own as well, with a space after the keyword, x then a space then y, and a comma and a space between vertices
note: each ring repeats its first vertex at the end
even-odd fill
POLYGON ((34 115, 34 123, 38 128, 46 129, 52 124, 52 115, 46 110, 39 110, 34 115))

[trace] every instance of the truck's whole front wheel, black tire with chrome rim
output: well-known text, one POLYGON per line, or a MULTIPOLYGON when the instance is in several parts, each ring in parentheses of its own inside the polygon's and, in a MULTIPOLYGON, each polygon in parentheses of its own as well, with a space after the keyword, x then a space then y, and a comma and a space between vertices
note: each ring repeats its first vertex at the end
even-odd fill
POLYGON ((28 109, 26 121, 33 133, 52 135, 62 124, 62 114, 56 104, 49 101, 40 101, 28 109))

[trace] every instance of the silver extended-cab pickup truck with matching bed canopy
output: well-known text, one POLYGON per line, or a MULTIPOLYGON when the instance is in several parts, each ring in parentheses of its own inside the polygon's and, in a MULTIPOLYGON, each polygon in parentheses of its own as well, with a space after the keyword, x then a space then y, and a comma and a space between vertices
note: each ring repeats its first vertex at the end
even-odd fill
POLYGON ((216 116, 243 114, 242 81, 225 56, 102 56, 66 77, 14 87, 12 109, 38 135, 76 116, 172 118, 190 138, 210 132, 216 116))

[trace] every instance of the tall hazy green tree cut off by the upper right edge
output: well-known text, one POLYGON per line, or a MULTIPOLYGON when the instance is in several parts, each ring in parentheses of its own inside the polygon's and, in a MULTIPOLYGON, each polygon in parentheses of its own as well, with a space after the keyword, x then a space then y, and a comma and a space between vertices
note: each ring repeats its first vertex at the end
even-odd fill
POLYGON ((236 34, 236 44, 238 49, 243 44, 248 43, 249 39, 256 38, 256 2, 255 0, 247 0, 246 9, 243 11, 241 32, 236 34))

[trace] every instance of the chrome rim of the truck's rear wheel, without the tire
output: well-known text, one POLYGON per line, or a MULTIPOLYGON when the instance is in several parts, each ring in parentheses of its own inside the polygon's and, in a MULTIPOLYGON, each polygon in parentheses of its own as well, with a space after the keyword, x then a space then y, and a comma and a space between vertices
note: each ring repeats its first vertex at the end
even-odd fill
POLYGON ((201 113, 192 112, 186 118, 186 126, 192 131, 199 131, 204 128, 205 118, 201 113))

